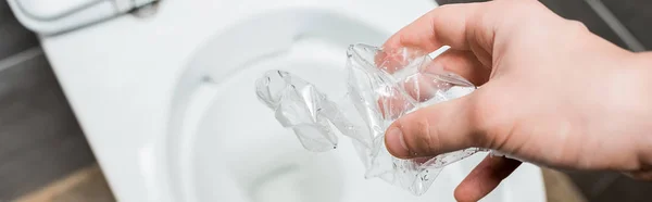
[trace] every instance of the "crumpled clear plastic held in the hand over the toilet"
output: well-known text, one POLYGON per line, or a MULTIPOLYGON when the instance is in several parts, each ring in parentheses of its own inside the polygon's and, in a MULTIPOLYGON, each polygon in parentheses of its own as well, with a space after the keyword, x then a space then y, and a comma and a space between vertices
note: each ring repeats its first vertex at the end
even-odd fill
POLYGON ((393 121, 471 93, 476 87, 431 65, 430 56, 415 50, 385 52, 352 45, 347 56, 347 93, 328 94, 344 97, 337 103, 287 72, 269 71, 256 81, 259 99, 274 110, 284 127, 294 131, 305 149, 329 151, 337 148, 338 134, 350 137, 366 167, 366 178, 379 177, 416 195, 427 191, 444 166, 479 151, 472 148, 422 160, 393 157, 384 141, 393 121))

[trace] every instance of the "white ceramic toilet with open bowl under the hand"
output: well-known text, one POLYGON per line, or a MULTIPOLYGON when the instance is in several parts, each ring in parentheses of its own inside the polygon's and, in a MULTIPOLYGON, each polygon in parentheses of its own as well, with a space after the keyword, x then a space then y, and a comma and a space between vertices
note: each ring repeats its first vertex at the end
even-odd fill
MULTIPOLYGON (((454 201, 455 186, 486 155, 449 165, 416 197, 365 179, 348 139, 306 151, 255 97, 268 70, 344 89, 334 80, 347 47, 381 45, 436 8, 432 0, 60 1, 43 9, 9 0, 41 35, 118 201, 454 201)), ((482 201, 543 202, 544 191, 541 171, 526 163, 482 201)))

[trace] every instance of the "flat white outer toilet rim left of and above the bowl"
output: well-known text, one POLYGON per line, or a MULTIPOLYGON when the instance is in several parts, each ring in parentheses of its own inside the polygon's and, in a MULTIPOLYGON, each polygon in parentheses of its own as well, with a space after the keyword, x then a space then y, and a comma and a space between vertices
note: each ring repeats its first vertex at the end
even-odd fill
POLYGON ((313 8, 348 13, 383 30, 396 31, 436 5, 431 0, 261 2, 162 1, 159 13, 150 18, 120 16, 88 29, 41 39, 117 200, 174 201, 165 138, 177 78, 200 45, 231 26, 233 21, 268 9, 313 8), (362 5, 369 2, 386 8, 362 5), (254 7, 244 13, 225 14, 239 4, 254 7), (396 10, 410 12, 385 22, 396 10))

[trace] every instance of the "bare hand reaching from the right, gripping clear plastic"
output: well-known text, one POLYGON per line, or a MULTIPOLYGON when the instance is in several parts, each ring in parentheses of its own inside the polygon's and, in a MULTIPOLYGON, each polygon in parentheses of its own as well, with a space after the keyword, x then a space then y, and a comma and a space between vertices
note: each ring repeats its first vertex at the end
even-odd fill
POLYGON ((652 53, 618 48, 534 0, 443 5, 384 48, 444 45, 431 66, 480 88, 399 118, 385 141, 401 159, 472 147, 513 156, 485 159, 456 200, 481 199, 522 161, 652 179, 652 53))

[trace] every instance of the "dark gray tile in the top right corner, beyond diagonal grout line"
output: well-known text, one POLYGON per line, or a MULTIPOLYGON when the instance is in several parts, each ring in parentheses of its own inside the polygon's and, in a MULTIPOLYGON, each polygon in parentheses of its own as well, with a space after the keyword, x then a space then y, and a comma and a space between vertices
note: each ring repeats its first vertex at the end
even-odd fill
POLYGON ((652 49, 652 1, 602 0, 602 3, 645 47, 652 49))

